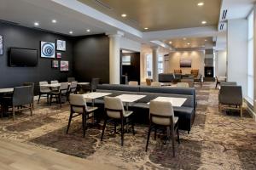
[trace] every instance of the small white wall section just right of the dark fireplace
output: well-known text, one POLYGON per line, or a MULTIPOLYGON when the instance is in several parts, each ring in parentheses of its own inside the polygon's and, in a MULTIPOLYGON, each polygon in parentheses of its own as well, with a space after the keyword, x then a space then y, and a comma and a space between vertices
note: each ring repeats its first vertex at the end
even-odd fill
POLYGON ((216 52, 216 75, 226 77, 227 74, 227 51, 219 50, 216 52))

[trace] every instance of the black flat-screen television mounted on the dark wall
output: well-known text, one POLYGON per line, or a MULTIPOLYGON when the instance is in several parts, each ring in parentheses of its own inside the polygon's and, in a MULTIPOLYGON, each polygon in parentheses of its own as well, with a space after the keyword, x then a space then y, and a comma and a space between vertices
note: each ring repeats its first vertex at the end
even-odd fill
POLYGON ((38 65, 38 50, 28 48, 10 48, 9 66, 32 67, 38 65))

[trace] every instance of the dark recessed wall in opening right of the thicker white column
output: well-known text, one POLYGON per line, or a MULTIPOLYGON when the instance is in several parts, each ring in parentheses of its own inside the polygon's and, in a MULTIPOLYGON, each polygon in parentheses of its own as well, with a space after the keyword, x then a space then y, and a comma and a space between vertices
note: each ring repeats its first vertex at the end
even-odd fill
MULTIPOLYGON (((140 81, 140 53, 121 53, 121 57, 125 55, 131 56, 131 65, 122 65, 121 75, 128 76, 129 81, 140 81)), ((120 59, 122 62, 122 59, 120 59)))

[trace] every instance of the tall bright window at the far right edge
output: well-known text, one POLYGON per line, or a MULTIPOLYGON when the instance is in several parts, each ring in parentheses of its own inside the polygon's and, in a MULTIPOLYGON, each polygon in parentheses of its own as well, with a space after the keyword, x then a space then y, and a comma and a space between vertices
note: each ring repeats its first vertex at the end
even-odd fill
POLYGON ((253 12, 247 17, 247 97, 253 100, 253 12))

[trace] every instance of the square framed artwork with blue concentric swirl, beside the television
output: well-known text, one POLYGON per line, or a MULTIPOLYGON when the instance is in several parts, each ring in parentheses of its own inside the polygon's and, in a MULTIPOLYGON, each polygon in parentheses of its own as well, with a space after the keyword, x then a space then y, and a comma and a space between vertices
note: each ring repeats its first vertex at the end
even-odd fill
POLYGON ((55 58, 55 43, 41 42, 41 57, 55 58))

